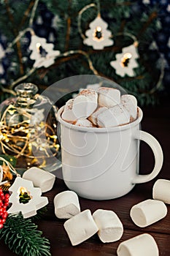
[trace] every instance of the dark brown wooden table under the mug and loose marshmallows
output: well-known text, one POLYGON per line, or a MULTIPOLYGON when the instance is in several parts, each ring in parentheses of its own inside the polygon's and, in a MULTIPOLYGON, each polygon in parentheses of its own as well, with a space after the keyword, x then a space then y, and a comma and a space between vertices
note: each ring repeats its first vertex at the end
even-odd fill
MULTIPOLYGON (((134 189, 123 197, 115 200, 88 200, 80 197, 81 211, 90 209, 93 213, 98 208, 115 211, 123 222, 124 233, 120 241, 114 243, 103 244, 97 234, 89 238, 87 241, 77 246, 72 246, 66 231, 63 228, 64 219, 58 219, 54 214, 53 198, 58 192, 66 190, 63 180, 56 178, 55 186, 50 192, 44 195, 48 197, 49 204, 47 206, 47 214, 39 222, 39 230, 43 231, 44 236, 49 238, 51 245, 51 253, 53 256, 69 255, 69 256, 115 256, 117 255, 117 246, 120 242, 128 238, 132 238, 142 233, 150 233, 158 244, 161 256, 170 255, 170 205, 168 214, 164 219, 152 224, 148 227, 140 228, 134 225, 129 216, 131 206, 142 200, 152 198, 152 186, 158 178, 166 178, 170 180, 170 103, 163 102, 158 107, 144 108, 144 118, 142 120, 142 129, 150 132, 161 143, 163 148, 164 162, 161 173, 154 180, 146 184, 137 184, 134 189)), ((152 152, 148 146, 141 143, 140 157, 140 173, 150 173, 154 165, 152 152)), ((61 170, 58 170, 61 171, 61 170)), ((12 256, 3 241, 0 241, 0 255, 12 256)), ((33 255, 34 256, 34 255, 33 255)), ((136 255, 138 256, 138 255, 136 255)))

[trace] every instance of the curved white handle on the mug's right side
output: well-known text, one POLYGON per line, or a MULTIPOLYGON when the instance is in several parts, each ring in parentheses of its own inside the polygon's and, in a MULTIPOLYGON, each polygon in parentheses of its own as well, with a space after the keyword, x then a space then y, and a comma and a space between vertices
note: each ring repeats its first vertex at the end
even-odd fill
POLYGON ((158 175, 163 165, 163 151, 162 151, 161 145, 160 143, 158 143, 158 140, 156 140, 152 135, 141 130, 136 132, 136 134, 134 135, 134 138, 137 140, 143 140, 150 146, 155 157, 155 166, 152 170, 152 173, 150 174, 147 174, 147 175, 136 174, 136 177, 133 179, 132 183, 138 184, 138 183, 151 181, 153 178, 155 178, 155 176, 158 175))

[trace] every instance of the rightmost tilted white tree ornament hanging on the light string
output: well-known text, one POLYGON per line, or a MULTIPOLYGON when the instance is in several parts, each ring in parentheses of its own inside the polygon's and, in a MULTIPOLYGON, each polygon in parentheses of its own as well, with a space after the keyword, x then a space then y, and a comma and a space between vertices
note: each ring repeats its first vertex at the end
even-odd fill
POLYGON ((111 66, 115 69, 117 75, 124 77, 128 75, 129 77, 134 77, 134 68, 139 67, 136 59, 139 58, 135 45, 130 45, 122 49, 122 53, 116 54, 116 60, 111 61, 111 66))

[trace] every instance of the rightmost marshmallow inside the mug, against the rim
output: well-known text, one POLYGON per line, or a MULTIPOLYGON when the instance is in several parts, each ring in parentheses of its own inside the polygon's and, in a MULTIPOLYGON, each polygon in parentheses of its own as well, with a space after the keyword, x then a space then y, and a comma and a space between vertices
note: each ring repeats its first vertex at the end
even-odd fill
POLYGON ((125 108, 130 116, 134 119, 137 118, 137 100, 136 97, 130 94, 122 95, 120 98, 123 108, 125 108))

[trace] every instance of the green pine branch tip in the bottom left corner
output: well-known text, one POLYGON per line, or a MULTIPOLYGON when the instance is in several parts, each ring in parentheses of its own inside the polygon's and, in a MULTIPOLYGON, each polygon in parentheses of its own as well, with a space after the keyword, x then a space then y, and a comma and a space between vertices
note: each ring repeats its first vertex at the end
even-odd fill
POLYGON ((0 230, 0 239, 4 239, 9 249, 17 255, 50 256, 50 242, 36 228, 31 219, 23 219, 21 214, 9 215, 0 230))

